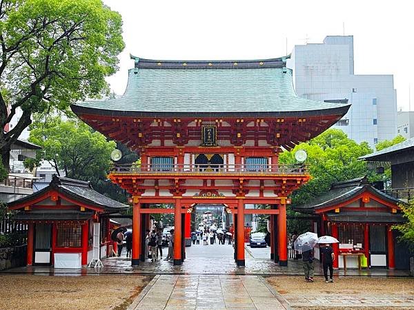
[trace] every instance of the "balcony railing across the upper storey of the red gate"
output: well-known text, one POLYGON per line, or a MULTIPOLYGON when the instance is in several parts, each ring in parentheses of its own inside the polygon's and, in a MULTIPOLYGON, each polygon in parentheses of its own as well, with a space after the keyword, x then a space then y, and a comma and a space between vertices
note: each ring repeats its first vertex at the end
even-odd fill
POLYGON ((225 174, 225 175, 275 175, 295 174, 307 175, 304 165, 116 165, 112 174, 225 174))

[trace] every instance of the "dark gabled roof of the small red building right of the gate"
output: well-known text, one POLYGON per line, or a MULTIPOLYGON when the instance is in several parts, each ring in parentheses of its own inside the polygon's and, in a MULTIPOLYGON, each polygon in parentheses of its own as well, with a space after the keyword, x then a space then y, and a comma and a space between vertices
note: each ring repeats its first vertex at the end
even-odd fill
POLYGON ((370 183, 368 183, 366 176, 364 176, 363 178, 355 178, 353 180, 333 183, 331 189, 329 189, 329 191, 325 194, 313 198, 309 203, 293 207, 293 209, 304 213, 314 213, 317 209, 332 207, 334 205, 344 203, 347 200, 351 200, 353 197, 362 194, 362 192, 371 192, 375 196, 379 196, 383 200, 386 200, 389 203, 394 203, 395 205, 402 203, 401 200, 385 194, 379 189, 373 187, 370 183))

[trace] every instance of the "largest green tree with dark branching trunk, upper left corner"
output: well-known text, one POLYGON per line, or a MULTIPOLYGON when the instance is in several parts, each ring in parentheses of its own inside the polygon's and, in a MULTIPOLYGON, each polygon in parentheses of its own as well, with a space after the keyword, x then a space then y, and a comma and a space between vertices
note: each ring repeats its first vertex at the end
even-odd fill
POLYGON ((124 49, 121 26, 120 14, 101 0, 0 1, 0 128, 23 112, 12 130, 0 130, 6 169, 32 114, 108 92, 105 77, 117 71, 124 49))

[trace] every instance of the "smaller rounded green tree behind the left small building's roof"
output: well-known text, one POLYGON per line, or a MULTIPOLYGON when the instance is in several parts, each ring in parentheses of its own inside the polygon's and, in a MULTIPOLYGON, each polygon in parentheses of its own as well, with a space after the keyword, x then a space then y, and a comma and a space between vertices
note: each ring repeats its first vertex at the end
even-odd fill
POLYGON ((37 161, 26 161, 29 168, 45 160, 58 175, 59 170, 63 170, 68 178, 94 183, 106 180, 112 165, 110 153, 116 145, 82 121, 61 121, 60 118, 52 118, 48 123, 33 123, 29 141, 42 147, 37 151, 37 161))

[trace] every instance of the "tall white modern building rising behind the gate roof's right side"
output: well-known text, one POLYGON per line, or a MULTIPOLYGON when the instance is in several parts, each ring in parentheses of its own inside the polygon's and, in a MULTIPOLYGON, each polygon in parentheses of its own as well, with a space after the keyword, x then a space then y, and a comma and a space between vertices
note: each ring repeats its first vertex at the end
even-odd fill
POLYGON ((393 75, 354 74, 353 36, 328 36, 324 43, 295 45, 289 66, 299 96, 352 103, 334 126, 349 138, 373 147, 397 135, 393 75))

